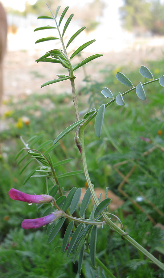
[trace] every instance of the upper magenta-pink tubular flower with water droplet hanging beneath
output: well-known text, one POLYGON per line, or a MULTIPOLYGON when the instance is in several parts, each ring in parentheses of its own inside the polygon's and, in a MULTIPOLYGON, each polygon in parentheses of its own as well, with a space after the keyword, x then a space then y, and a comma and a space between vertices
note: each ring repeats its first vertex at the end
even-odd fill
POLYGON ((15 188, 11 188, 9 190, 9 196, 13 200, 18 200, 27 203, 50 203, 53 199, 52 196, 49 195, 30 195, 23 193, 15 188))

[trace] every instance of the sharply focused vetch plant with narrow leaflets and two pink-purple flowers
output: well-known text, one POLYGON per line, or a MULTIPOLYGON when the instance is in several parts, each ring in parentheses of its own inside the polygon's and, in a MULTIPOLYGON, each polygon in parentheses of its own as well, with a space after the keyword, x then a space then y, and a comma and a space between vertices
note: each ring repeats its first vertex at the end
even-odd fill
MULTIPOLYGON (((49 7, 48 7, 49 8, 49 7)), ((63 244, 62 244, 62 251, 65 252, 67 250, 67 257, 69 257, 70 254, 75 254, 73 262, 75 260, 78 260, 78 272, 80 274, 81 267, 83 264, 83 259, 86 253, 90 255, 91 263, 93 267, 96 267, 97 264, 100 265, 108 275, 108 277, 115 277, 113 273, 107 268, 101 261, 96 257, 96 239, 97 239, 97 226, 101 226, 103 228, 104 225, 109 226, 109 228, 113 229, 115 232, 117 232, 121 238, 124 240, 127 240, 130 244, 135 246, 139 251, 141 251, 147 258, 149 258, 153 263, 155 263, 158 267, 163 269, 163 264, 156 259, 152 254, 150 254, 149 251, 147 251, 145 248, 143 248, 139 243, 137 243, 133 238, 126 233, 122 227, 119 228, 110 218, 110 213, 108 212, 108 205, 112 201, 110 198, 108 198, 108 187, 106 188, 106 198, 105 200, 101 201, 101 195, 99 198, 97 198, 95 191, 94 191, 94 185, 91 182, 89 173, 88 173, 88 167, 87 167, 87 161, 85 156, 85 149, 84 149, 84 130, 88 123, 95 118, 95 133, 97 137, 100 137, 101 130, 103 126, 103 120, 105 116, 105 109, 112 103, 116 102, 118 105, 122 106, 125 104, 125 101, 123 97, 132 92, 136 91, 136 94, 139 99, 145 100, 146 99, 146 93, 145 93, 145 87, 146 85, 153 83, 153 82, 159 82, 161 86, 164 86, 164 75, 162 75, 160 78, 154 79, 152 73, 146 66, 141 66, 139 72, 142 76, 145 78, 151 79, 150 81, 146 83, 139 82, 137 86, 134 86, 133 83, 129 80, 128 77, 125 76, 125 74, 121 72, 117 72, 116 78, 118 81, 120 81, 125 86, 130 87, 130 89, 124 93, 118 93, 117 96, 114 98, 112 92, 109 88, 104 87, 101 91, 102 95, 105 96, 105 98, 110 98, 111 100, 107 102, 106 104, 100 105, 99 109, 96 111, 96 108, 92 108, 90 111, 88 111, 84 116, 83 119, 80 119, 79 111, 78 111, 78 101, 76 97, 76 87, 75 87, 75 75, 74 72, 80 68, 81 66, 87 64, 88 62, 101 57, 102 54, 95 54, 92 55, 74 67, 72 66, 72 58, 75 57, 77 54, 79 54, 84 48, 86 48, 88 45, 92 44, 95 40, 88 41, 81 45, 79 48, 72 53, 70 57, 68 57, 67 48, 71 44, 71 42, 85 29, 85 27, 80 28, 75 34, 72 35, 72 37, 68 40, 66 46, 64 43, 64 34, 68 28, 69 23, 71 22, 71 19, 73 17, 73 14, 69 16, 68 20, 66 21, 63 30, 60 30, 60 24, 66 15, 66 12, 68 11, 69 7, 66 7, 63 11, 62 15, 60 16, 59 20, 57 20, 58 11, 60 9, 60 6, 58 6, 55 15, 51 12, 50 16, 39 16, 38 19, 52 19, 55 23, 55 26, 44 26, 36 28, 34 31, 40 31, 44 29, 54 29, 54 31, 58 32, 58 37, 46 37, 42 38, 36 41, 36 43, 48 41, 48 40, 60 40, 62 49, 52 49, 47 51, 42 57, 36 60, 36 62, 50 62, 50 63, 58 63, 61 64, 66 70, 68 70, 68 74, 57 74, 56 79, 47 81, 41 85, 41 87, 51 85, 56 82, 61 82, 64 80, 69 79, 71 82, 72 87, 72 96, 73 96, 73 102, 74 102, 74 108, 75 108, 75 116, 76 116, 76 122, 72 123, 70 126, 66 127, 54 140, 53 144, 52 141, 49 140, 42 145, 39 146, 39 148, 33 149, 32 145, 40 139, 40 137, 33 137, 29 141, 24 142, 23 138, 21 138, 24 149, 27 150, 27 156, 28 154, 31 155, 30 160, 27 161, 27 163, 23 166, 23 169, 21 172, 23 172, 26 167, 35 159, 39 166, 37 166, 33 171, 27 176, 24 183, 27 182, 30 177, 41 177, 45 180, 45 186, 47 188, 47 194, 48 195, 29 195, 23 192, 20 192, 16 189, 10 189, 9 196, 13 200, 20 200, 24 202, 31 203, 38 203, 39 207, 43 205, 43 203, 49 203, 49 206, 47 210, 45 211, 43 217, 36 218, 36 219, 25 219, 22 222, 22 227, 24 229, 31 229, 31 228, 38 228, 43 225, 47 225, 47 231, 46 234, 48 236, 48 242, 51 242, 55 236, 60 231, 61 227, 64 224, 65 219, 67 218, 69 220, 69 224, 67 226, 67 229, 64 234, 63 238, 63 244), (53 150, 55 147, 59 145, 60 139, 65 137, 68 133, 70 133, 73 129, 76 129, 74 141, 77 146, 77 148, 80 151, 81 154, 81 161, 83 164, 83 171, 72 171, 68 173, 63 173, 61 175, 56 175, 55 168, 59 165, 62 165, 64 163, 69 163, 72 161, 71 158, 59 161, 54 163, 52 161, 52 158, 49 154, 51 150, 53 150), (41 150, 43 147, 48 146, 47 150, 43 153, 41 150), (80 210, 79 210, 79 217, 74 217, 72 214, 77 211, 77 207, 80 201, 81 191, 82 188, 76 188, 73 187, 68 195, 64 195, 63 193, 63 187, 59 184, 59 179, 62 177, 70 177, 72 175, 78 175, 84 172, 86 182, 88 184, 88 189, 84 195, 83 200, 80 204, 80 210), (39 175, 34 175, 34 174, 39 175), (52 187, 51 189, 48 186, 48 180, 51 181, 52 187), (57 193, 59 193, 59 198, 56 198, 57 193), (85 212, 88 207, 89 201, 91 199, 91 196, 94 200, 94 206, 92 208, 92 212, 90 214, 89 219, 85 218, 85 212), (103 218, 103 220, 101 220, 103 218), (71 238, 71 239, 70 239, 71 238)), ((73 141, 73 139, 72 139, 73 141)), ((23 152, 21 150, 17 157, 23 152)), ((22 158, 18 163, 22 161, 22 158)), ((32 192, 31 192, 32 193, 32 192)), ((116 216, 117 217, 117 216, 116 216)), ((117 217, 118 218, 118 217, 117 217)), ((119 220, 120 221, 120 220, 119 220)), ((121 223, 122 226, 122 223, 121 223)), ((101 231, 100 231, 101 233, 101 231)))

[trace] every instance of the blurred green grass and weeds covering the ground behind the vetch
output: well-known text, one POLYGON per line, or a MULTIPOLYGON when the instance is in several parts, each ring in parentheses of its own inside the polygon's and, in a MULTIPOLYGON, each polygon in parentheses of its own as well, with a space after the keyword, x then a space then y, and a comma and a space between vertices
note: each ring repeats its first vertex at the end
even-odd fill
MULTIPOLYGON (((154 78, 162 75, 162 61, 147 62, 146 66, 152 71, 154 78)), ((138 69, 130 72, 128 67, 118 70, 109 65, 101 72, 104 74, 103 82, 92 82, 92 85, 87 83, 81 88, 81 94, 78 95, 79 111, 87 108, 89 111, 94 107, 97 109, 100 104, 106 103, 107 99, 100 93, 104 86, 109 87, 114 97, 118 92, 123 93, 127 90, 127 87, 115 78, 116 71, 127 75, 134 86, 140 81, 146 82, 146 78, 139 74, 138 69)), ((155 82, 145 86, 145 91, 146 101, 138 99, 133 91, 124 97, 124 107, 113 103, 105 109, 105 129, 102 129, 100 139, 94 133, 94 121, 91 121, 85 131, 85 150, 88 171, 94 187, 105 189, 109 186, 110 190, 125 201, 124 205, 114 213, 121 219, 130 236, 162 260, 163 254, 160 251, 162 230, 153 228, 153 223, 146 215, 149 214, 156 223, 163 224, 162 215, 153 207, 163 212, 163 153, 158 148, 145 157, 142 154, 154 145, 163 146, 163 89, 158 82, 155 82), (159 130, 162 131, 161 135, 159 130), (150 142, 143 141, 140 137, 149 138, 150 142), (137 167, 129 177, 129 183, 124 184, 123 190, 134 201, 137 197, 141 197, 141 194, 144 195, 141 202, 138 202, 144 209, 144 213, 118 191, 122 177, 114 170, 113 165, 125 160, 127 163, 118 167, 124 175, 128 174, 134 162, 137 167)), ((11 187, 29 194, 44 192, 44 179, 30 178, 23 185, 24 179, 37 163, 34 161, 29 164, 20 175, 22 167, 30 156, 24 158, 17 166, 18 160, 26 154, 24 150, 20 158, 14 160, 15 155, 23 147, 19 137, 22 135, 27 141, 34 135, 43 134, 34 145, 35 148, 47 140, 54 140, 62 130, 76 121, 72 97, 66 93, 52 95, 47 92, 46 95, 40 96, 34 92, 33 95, 27 96, 26 100, 19 99, 16 104, 11 99, 7 106, 9 111, 13 110, 13 113, 6 115, 5 121, 9 129, 1 133, 1 275, 31 278, 78 277, 76 276, 77 265, 72 264, 71 258, 66 259, 61 247, 54 250, 55 246, 62 244, 59 236, 53 243, 48 244, 44 227, 29 231, 23 231, 21 228, 23 219, 41 217, 46 205, 37 210, 35 204, 28 206, 23 202, 11 200, 8 196, 11 187), (49 103, 45 99, 49 99, 49 103), (16 123, 22 116, 28 117, 30 123, 29 125, 23 123, 22 128, 18 128, 16 123)), ((82 115, 84 114, 85 112, 82 115)), ((56 167, 57 175, 82 170, 80 152, 74 144, 74 133, 75 130, 64 137, 60 145, 51 151, 53 162, 66 158, 74 159, 68 164, 56 167)), ((43 150, 46 150, 46 147, 43 150)), ((70 190, 73 186, 84 187, 85 184, 83 174, 59 181, 64 191, 70 190)), ((50 182, 48 186, 51 186, 50 182)), ((89 212, 86 216, 89 216, 89 212)), ((116 221, 114 218, 112 220, 116 221)), ((145 260, 146 258, 140 252, 107 227, 98 230, 96 254, 116 277, 162 277, 163 275, 162 271, 154 267, 149 260, 145 260)), ((90 259, 86 254, 84 258, 81 277, 88 277, 90 270, 93 277, 96 277, 97 271, 90 266, 90 259)), ((100 277, 102 275, 101 269, 99 275, 100 277)))

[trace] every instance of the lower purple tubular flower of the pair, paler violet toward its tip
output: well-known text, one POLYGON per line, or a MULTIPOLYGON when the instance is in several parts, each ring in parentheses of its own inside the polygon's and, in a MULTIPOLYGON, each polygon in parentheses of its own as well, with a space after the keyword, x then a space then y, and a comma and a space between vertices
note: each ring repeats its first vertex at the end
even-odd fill
POLYGON ((62 211, 58 210, 44 217, 34 218, 34 219, 24 219, 21 226, 23 229, 36 229, 46 224, 49 224, 51 222, 54 222, 62 215, 63 215, 62 211))

